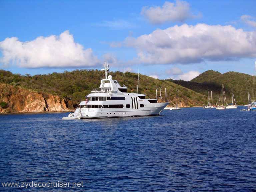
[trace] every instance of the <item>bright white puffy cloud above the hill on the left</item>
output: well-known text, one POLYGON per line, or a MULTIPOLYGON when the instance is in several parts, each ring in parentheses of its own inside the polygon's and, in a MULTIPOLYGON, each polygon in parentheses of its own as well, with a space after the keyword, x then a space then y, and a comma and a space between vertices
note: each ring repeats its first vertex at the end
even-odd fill
POLYGON ((6 38, 0 42, 0 50, 3 55, 0 63, 13 63, 19 67, 78 67, 99 63, 92 49, 84 49, 76 43, 69 31, 26 42, 19 41, 17 37, 6 38))

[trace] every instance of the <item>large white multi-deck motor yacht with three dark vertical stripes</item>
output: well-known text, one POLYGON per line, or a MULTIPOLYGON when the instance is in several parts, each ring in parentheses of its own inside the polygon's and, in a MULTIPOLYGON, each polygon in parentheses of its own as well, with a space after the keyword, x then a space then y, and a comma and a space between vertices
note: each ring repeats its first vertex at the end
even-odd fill
POLYGON ((109 74, 109 65, 105 62, 105 79, 100 87, 93 89, 86 100, 79 104, 74 114, 63 119, 91 119, 110 117, 134 117, 159 115, 169 103, 158 103, 157 99, 146 99, 146 95, 127 93, 109 74))

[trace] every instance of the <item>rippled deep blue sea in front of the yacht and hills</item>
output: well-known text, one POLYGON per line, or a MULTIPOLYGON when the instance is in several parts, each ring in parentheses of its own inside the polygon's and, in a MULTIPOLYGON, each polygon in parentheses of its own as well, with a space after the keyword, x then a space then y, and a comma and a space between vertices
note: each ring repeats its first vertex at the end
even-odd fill
POLYGON ((256 111, 61 119, 67 115, 0 115, 0 191, 256 191, 256 111))

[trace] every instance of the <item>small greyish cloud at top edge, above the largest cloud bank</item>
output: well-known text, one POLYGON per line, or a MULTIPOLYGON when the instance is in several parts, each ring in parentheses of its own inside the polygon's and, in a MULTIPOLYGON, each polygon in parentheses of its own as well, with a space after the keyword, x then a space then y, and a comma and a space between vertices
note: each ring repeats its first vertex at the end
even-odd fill
POLYGON ((141 14, 153 24, 165 22, 184 22, 195 17, 190 13, 190 5, 186 1, 177 0, 176 4, 166 1, 162 7, 143 7, 141 14))

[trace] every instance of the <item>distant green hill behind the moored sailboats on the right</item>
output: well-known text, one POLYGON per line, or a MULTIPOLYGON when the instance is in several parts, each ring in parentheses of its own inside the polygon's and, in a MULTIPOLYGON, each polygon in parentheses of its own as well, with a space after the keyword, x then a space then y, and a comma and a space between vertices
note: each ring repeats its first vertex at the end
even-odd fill
POLYGON ((207 96, 207 88, 213 93, 213 103, 218 101, 218 92, 222 93, 222 83, 224 84, 226 99, 231 102, 231 89, 233 89, 234 96, 237 104, 248 103, 248 91, 252 95, 253 76, 238 73, 238 72, 227 72, 221 74, 217 71, 208 70, 199 76, 195 77, 191 81, 177 81, 170 80, 176 84, 184 86, 188 89, 196 91, 198 93, 207 96))

